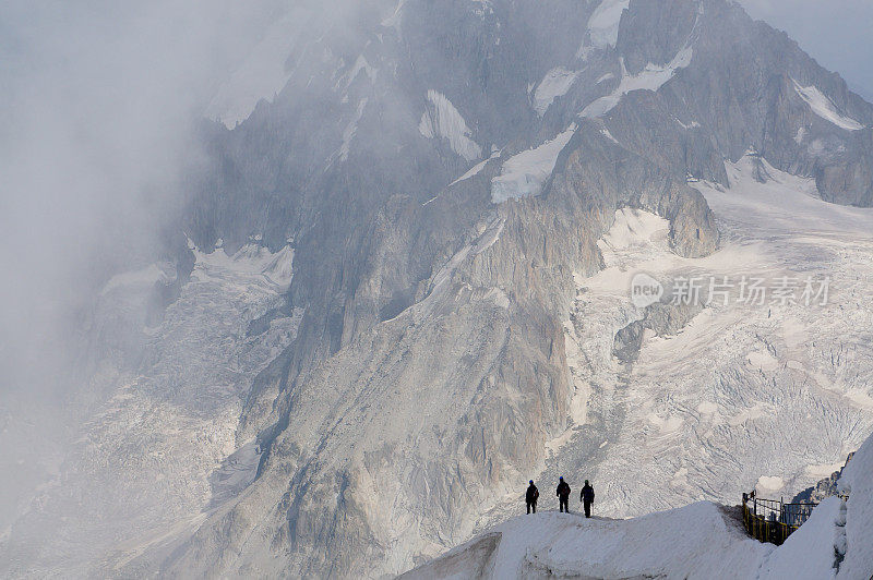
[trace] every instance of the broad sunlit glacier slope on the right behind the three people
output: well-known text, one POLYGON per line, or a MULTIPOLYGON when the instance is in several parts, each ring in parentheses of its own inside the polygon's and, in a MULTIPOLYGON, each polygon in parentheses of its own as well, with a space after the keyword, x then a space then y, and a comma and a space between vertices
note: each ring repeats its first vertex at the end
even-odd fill
POLYGON ((873 213, 822 202, 811 180, 754 157, 727 170, 729 189, 696 184, 720 226, 717 252, 677 256, 666 221, 623 209, 600 242, 606 268, 576 278, 567 328, 579 350, 569 364, 589 397, 588 421, 563 436, 566 451, 550 474, 600 481, 610 513, 644 513, 679 497, 728 503, 767 476, 779 481, 770 494, 793 495, 873 430, 873 213), (757 165, 765 183, 754 179, 757 165), (673 328, 644 324, 629 345, 633 360, 622 360, 614 341, 648 314, 629 297, 637 273, 661 280, 668 301, 695 277, 701 305, 713 280, 727 295, 673 328), (740 302, 743 278, 773 289, 784 277, 796 303, 740 302), (808 278, 816 291, 829 279, 826 304, 804 303, 808 278))

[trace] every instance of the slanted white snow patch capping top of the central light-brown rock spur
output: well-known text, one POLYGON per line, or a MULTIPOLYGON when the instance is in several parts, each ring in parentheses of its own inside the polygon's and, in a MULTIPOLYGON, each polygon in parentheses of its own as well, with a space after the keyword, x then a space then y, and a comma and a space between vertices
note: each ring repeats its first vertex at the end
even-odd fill
POLYGON ((506 159, 500 174, 491 180, 491 202, 500 204, 506 200, 539 195, 554 171, 558 156, 575 132, 576 124, 572 123, 554 138, 506 159))

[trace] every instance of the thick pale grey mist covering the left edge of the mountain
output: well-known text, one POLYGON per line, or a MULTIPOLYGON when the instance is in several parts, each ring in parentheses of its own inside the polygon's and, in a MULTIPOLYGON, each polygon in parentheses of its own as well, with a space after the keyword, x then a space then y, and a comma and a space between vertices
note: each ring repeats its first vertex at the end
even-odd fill
POLYGON ((0 535, 82 416, 96 291, 154 253, 208 99, 288 5, 0 4, 0 535))

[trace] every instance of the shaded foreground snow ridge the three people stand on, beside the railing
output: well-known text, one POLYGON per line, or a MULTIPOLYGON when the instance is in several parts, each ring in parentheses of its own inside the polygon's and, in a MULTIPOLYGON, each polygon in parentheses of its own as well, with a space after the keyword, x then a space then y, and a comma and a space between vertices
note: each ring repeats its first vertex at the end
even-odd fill
POLYGON ((869 578, 873 437, 850 464, 840 480, 848 500, 822 502, 778 547, 749 537, 738 508, 709 502, 627 520, 540 510, 516 516, 400 578, 869 578))

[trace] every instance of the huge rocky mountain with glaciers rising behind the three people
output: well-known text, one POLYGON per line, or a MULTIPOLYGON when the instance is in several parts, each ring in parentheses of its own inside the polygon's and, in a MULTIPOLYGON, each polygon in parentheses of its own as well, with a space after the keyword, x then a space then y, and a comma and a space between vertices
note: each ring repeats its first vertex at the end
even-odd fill
POLYGON ((873 431, 873 106, 737 4, 299 2, 206 114, 5 573, 399 573, 531 478, 793 495, 873 431))

